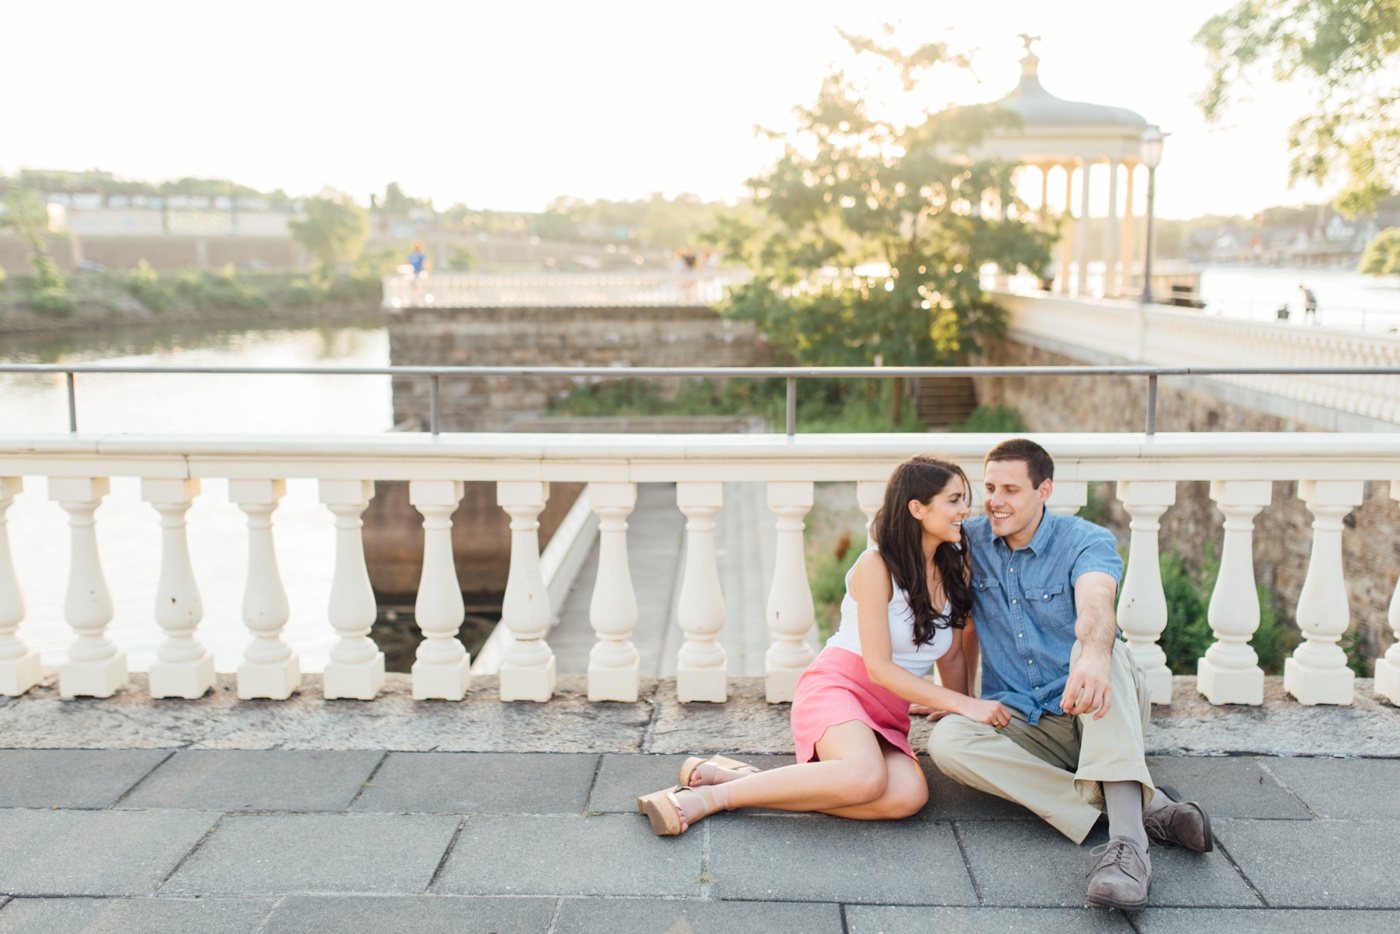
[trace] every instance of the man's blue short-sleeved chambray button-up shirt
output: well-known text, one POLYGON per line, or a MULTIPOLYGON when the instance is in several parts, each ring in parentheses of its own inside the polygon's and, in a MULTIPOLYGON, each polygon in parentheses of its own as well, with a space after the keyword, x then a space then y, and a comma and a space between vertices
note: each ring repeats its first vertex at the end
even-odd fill
POLYGON ((1074 515, 1043 513, 1030 543, 1012 552, 984 517, 963 522, 972 549, 972 616, 981 643, 981 696, 1026 716, 1060 714, 1074 648, 1074 583, 1088 571, 1123 580, 1113 534, 1074 515))

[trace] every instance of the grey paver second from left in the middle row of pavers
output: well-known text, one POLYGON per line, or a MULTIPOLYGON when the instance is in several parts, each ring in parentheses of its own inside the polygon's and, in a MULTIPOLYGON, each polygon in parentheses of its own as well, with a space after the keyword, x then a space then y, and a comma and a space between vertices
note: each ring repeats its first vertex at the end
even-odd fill
POLYGON ((417 895, 427 889, 456 829, 452 816, 235 814, 161 891, 417 895))

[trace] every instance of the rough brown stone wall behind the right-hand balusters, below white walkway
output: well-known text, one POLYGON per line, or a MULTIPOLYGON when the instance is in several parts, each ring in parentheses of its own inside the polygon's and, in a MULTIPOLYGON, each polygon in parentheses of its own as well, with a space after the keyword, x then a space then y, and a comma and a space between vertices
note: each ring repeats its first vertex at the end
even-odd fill
MULTIPOLYGON (((979 363, 988 365, 1082 365, 1060 353, 1012 340, 988 347, 979 363)), ((981 405, 1019 409, 1032 431, 1142 431, 1147 381, 1141 377, 983 377, 981 405)), ((1259 412, 1212 395, 1203 382, 1162 378, 1158 385, 1158 431, 1313 431, 1315 427, 1259 412)), ((1054 451, 1050 452, 1051 455, 1054 451)), ((1351 601, 1351 622, 1368 660, 1394 641, 1387 613, 1400 570, 1400 504, 1390 499, 1389 478, 1365 485, 1365 500, 1345 518, 1343 566, 1351 601)), ((1400 468, 1396 471, 1400 482, 1400 468)), ((1112 483, 1096 493, 1109 510, 1106 524, 1127 542, 1128 515, 1112 483)), ((1197 570, 1207 543, 1219 555, 1224 517, 1205 482, 1179 483, 1176 506, 1162 517, 1162 552, 1179 550, 1197 570)), ((1254 574, 1274 595, 1281 620, 1294 622, 1298 595, 1312 550, 1312 514, 1298 499, 1298 483, 1274 483, 1274 499, 1254 520, 1254 574)), ((1369 671, 1368 671, 1369 674, 1369 671)))

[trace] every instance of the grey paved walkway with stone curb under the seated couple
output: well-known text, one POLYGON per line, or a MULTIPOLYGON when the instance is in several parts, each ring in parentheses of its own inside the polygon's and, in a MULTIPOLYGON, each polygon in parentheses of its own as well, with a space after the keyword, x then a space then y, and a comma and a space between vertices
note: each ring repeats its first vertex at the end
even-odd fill
MULTIPOLYGON (((930 772, 900 822, 717 815, 651 835, 634 797, 683 753, 791 762, 757 679, 728 704, 0 702, 0 931, 1387 931, 1400 928, 1400 711, 1211 709, 1177 679, 1154 773, 1203 801, 1217 850, 1154 849, 1152 906, 1086 907, 1075 847, 930 772), (1243 730, 1242 730, 1243 727, 1243 730), (1275 749, 1310 758, 1238 755, 1275 749), (1236 755, 1205 756, 1207 752, 1236 755), (1338 752, 1351 758, 1319 758, 1338 752), (1326 914, 1323 914, 1326 912, 1326 914)), ((923 734, 920 727, 920 735, 923 734)), ((916 744, 917 745, 917 744, 916 744)))

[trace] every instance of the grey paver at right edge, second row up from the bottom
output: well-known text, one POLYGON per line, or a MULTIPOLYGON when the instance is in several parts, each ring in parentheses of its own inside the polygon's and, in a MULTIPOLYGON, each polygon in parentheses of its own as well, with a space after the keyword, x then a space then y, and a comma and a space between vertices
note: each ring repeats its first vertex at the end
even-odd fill
POLYGON ((1394 851, 1400 821, 1217 821, 1215 839, 1270 907, 1400 909, 1393 861, 1379 856, 1394 851))

